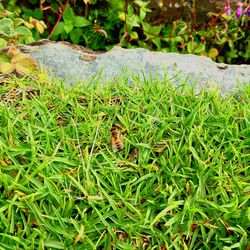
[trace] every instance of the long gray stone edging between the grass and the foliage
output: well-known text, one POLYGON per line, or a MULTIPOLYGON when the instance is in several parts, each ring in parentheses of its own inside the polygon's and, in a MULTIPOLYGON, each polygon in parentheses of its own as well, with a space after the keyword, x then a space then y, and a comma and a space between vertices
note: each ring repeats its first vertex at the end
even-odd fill
POLYGON ((235 91, 238 85, 250 84, 250 65, 219 64, 203 56, 114 47, 106 53, 95 54, 96 58, 88 61, 80 58, 93 56, 91 52, 60 42, 32 47, 36 49, 29 51, 30 56, 52 76, 68 84, 98 79, 111 81, 125 75, 130 85, 134 77, 177 85, 186 81, 196 82, 196 90, 219 87, 225 94, 235 91))

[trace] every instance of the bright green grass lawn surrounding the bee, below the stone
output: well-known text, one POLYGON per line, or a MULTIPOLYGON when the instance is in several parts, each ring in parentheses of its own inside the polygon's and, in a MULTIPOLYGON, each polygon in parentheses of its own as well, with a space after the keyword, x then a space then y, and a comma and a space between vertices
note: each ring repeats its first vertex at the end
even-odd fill
POLYGON ((39 81, 0 87, 0 249, 250 247, 249 85, 39 81))

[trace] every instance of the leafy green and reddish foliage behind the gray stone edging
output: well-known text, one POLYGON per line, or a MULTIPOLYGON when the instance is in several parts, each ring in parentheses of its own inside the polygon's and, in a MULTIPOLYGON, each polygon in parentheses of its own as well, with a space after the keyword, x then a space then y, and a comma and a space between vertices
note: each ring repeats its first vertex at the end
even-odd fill
MULTIPOLYGON (((8 44, 49 38, 70 41, 93 50, 107 50, 118 44, 127 48, 194 53, 219 62, 249 63, 250 7, 247 1, 214 1, 217 11, 207 13, 202 23, 197 22, 195 2, 2 1, 0 22, 6 23, 8 18, 13 24, 8 28, 11 34, 6 35, 1 28, 0 36, 8 44), (216 2, 221 3, 216 5, 216 2), (226 14, 229 2, 232 2, 231 13, 226 14), (243 12, 237 16, 239 4, 242 4, 243 12), (170 15, 170 10, 176 13, 170 15)), ((6 45, 3 40, 0 47, 6 45)))

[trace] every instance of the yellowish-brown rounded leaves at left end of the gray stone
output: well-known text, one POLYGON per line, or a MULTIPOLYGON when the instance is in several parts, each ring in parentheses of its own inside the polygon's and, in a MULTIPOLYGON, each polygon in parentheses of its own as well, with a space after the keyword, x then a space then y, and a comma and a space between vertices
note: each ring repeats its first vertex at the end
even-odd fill
POLYGON ((6 53, 0 53, 0 72, 2 74, 16 73, 19 76, 25 76, 32 74, 37 69, 36 61, 15 47, 10 47, 6 53))

